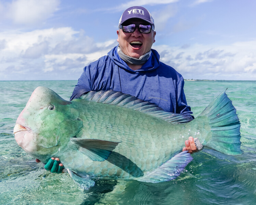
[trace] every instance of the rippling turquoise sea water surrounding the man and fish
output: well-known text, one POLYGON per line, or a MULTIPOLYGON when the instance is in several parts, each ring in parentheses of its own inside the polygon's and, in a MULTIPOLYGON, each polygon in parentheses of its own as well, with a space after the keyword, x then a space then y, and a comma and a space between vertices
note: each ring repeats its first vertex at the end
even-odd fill
POLYGON ((194 153, 175 180, 158 184, 97 180, 81 189, 67 173, 52 174, 27 155, 13 135, 18 115, 38 86, 69 100, 76 81, 0 81, 0 204, 256 204, 256 81, 186 81, 196 117, 223 90, 241 122, 241 156, 211 149, 194 153))

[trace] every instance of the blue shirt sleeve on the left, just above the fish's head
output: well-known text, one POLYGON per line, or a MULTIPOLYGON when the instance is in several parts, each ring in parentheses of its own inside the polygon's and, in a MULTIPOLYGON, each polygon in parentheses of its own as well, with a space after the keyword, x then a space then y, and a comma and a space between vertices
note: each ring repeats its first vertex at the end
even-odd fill
POLYGON ((70 97, 70 101, 79 98, 83 94, 89 92, 91 90, 91 83, 92 82, 92 73, 90 65, 84 68, 84 72, 78 79, 77 85, 74 88, 72 96, 70 97))

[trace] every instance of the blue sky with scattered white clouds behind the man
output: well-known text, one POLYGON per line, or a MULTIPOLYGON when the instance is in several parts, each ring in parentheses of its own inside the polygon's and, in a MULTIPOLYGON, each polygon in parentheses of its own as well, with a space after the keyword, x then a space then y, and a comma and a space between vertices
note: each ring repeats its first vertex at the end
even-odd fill
POLYGON ((78 80, 118 44, 134 5, 150 11, 152 48, 184 79, 256 80, 253 0, 0 0, 0 80, 78 80))

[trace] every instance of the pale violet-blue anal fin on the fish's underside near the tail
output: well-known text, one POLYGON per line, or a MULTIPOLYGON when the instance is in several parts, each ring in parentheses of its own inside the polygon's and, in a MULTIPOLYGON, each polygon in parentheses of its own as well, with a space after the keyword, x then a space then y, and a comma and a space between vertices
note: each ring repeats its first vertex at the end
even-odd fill
POLYGON ((188 151, 180 152, 157 169, 147 173, 143 177, 136 178, 136 180, 152 183, 170 181, 177 178, 192 159, 188 151))

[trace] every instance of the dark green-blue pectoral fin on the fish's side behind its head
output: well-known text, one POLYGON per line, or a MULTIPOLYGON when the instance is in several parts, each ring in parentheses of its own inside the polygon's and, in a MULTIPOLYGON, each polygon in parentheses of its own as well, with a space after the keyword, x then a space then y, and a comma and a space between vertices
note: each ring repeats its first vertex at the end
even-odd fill
POLYGON ((111 152, 116 148, 119 142, 110 142, 105 140, 95 139, 79 139, 72 138, 77 149, 93 161, 106 160, 111 152))

